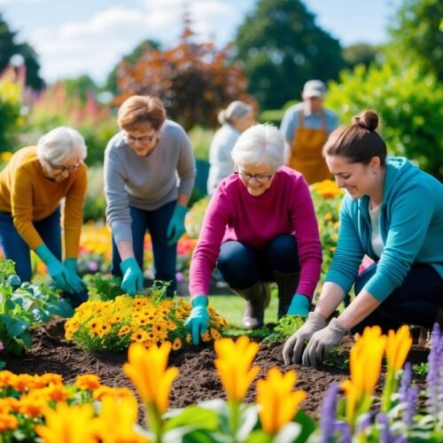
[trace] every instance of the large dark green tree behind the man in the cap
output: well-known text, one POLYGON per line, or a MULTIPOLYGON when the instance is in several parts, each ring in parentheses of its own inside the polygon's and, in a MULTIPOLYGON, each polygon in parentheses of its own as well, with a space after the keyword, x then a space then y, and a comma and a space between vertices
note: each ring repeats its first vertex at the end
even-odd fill
POLYGON ((338 40, 315 25, 299 0, 259 0, 235 39, 249 92, 262 109, 298 98, 309 79, 328 81, 345 67, 338 40))

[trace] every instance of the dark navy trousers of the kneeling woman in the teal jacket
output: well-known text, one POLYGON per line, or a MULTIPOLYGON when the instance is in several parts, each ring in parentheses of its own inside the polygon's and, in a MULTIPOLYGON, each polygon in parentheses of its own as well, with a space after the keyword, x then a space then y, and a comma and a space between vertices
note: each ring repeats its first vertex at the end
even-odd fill
MULTIPOLYGON (((356 294, 376 273, 376 266, 374 263, 357 277, 356 294)), ((405 323, 431 329, 437 321, 439 306, 443 306, 443 279, 430 265, 416 263, 402 284, 351 331, 362 332, 366 326, 378 324, 387 332, 397 330, 405 323)))

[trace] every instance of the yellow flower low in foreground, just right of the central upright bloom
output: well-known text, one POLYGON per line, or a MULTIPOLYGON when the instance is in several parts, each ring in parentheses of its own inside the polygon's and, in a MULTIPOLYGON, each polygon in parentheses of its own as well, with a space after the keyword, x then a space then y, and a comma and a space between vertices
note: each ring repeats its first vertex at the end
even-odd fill
POLYGON ((268 434, 275 435, 285 424, 291 422, 300 402, 305 400, 305 391, 292 391, 296 381, 297 374, 294 370, 283 374, 274 367, 269 369, 267 379, 257 382, 261 426, 268 434))

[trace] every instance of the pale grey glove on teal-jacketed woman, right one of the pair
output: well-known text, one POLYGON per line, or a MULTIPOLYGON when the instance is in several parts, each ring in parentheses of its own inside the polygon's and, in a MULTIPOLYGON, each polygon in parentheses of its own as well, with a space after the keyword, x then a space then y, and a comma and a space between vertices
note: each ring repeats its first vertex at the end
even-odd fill
POLYGON ((317 362, 321 363, 330 353, 330 349, 338 345, 345 333, 346 329, 338 324, 336 318, 333 318, 326 328, 315 332, 309 340, 303 353, 302 363, 315 368, 317 362))

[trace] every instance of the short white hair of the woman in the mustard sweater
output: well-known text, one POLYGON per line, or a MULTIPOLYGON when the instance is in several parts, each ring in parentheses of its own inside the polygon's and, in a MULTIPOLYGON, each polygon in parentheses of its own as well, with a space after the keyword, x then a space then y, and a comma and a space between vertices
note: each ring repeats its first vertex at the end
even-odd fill
POLYGON ((85 159, 86 144, 79 131, 60 126, 41 136, 37 143, 37 157, 54 165, 68 159, 85 159))

